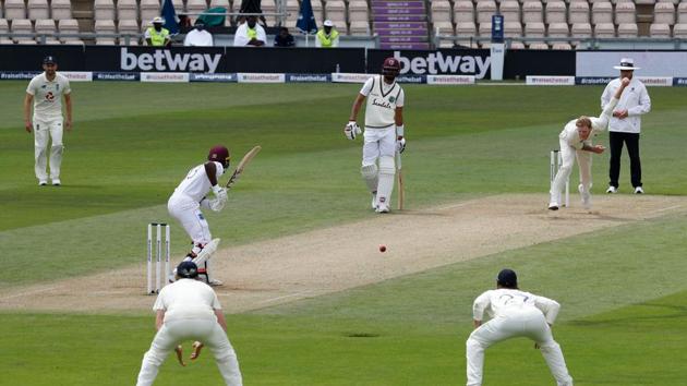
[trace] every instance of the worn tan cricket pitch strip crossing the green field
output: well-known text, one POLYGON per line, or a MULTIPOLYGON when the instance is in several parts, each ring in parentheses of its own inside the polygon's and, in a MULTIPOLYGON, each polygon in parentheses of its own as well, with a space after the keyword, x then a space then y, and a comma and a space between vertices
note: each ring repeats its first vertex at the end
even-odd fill
MULTIPOLYGON (((225 243, 213 257, 226 313, 240 313, 365 286, 575 234, 687 213, 687 197, 594 196, 583 210, 552 213, 545 194, 504 194, 364 220, 252 244, 225 243), (379 244, 387 251, 381 253, 379 244)), ((143 252, 142 252, 143 253, 143 252)), ((174 258, 172 257, 172 261, 174 258)), ((173 262, 176 264, 178 262, 173 262)), ((0 310, 152 312, 145 266, 0 291, 0 310)))

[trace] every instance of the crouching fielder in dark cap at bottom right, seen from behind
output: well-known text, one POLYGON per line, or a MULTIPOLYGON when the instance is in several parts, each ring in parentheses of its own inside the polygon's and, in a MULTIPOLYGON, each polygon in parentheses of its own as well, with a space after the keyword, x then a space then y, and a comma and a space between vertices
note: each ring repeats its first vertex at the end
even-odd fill
POLYGON ((518 290, 518 277, 503 269, 496 289, 480 294, 472 305, 475 329, 466 343, 468 386, 482 385, 484 350, 499 341, 525 337, 534 340, 558 386, 572 386, 561 346, 553 339, 551 326, 558 316, 556 301, 518 290), (484 313, 492 318, 482 324, 484 313))

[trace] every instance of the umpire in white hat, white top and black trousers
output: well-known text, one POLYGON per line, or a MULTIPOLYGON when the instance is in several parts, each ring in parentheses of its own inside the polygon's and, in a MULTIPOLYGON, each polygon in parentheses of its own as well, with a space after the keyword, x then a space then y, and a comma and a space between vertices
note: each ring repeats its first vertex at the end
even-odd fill
POLYGON ((641 184, 641 162, 639 160, 639 133, 641 131, 641 116, 651 110, 651 99, 647 87, 639 80, 632 77, 635 61, 631 58, 620 59, 620 65, 614 69, 620 70, 620 76, 611 81, 601 95, 601 108, 611 101, 615 91, 620 86, 620 80, 627 77, 630 84, 620 97, 618 105, 613 110, 613 117, 608 122, 608 145, 611 148, 611 165, 608 168, 608 189, 606 193, 617 193, 618 178, 620 176, 620 156, 623 144, 627 145, 630 158, 630 182, 635 194, 644 193, 641 184))

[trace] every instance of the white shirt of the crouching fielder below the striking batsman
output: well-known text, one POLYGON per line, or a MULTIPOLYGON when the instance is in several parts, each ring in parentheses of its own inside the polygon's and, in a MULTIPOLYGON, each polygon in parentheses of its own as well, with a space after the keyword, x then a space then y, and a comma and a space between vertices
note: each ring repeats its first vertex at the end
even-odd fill
POLYGON ((203 281, 179 279, 162 287, 153 311, 165 310, 165 322, 184 318, 215 318, 221 310, 217 293, 203 281))

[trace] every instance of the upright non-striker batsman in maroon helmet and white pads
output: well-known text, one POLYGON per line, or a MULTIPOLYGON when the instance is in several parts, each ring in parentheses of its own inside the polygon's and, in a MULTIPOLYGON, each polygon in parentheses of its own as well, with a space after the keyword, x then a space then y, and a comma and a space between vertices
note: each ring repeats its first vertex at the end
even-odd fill
POLYGON ((365 98, 365 143, 361 173, 372 193, 372 208, 377 213, 388 213, 396 174, 396 152, 406 149, 403 138, 403 99, 401 86, 396 83, 400 72, 400 62, 395 58, 386 58, 382 67, 382 75, 367 80, 353 102, 349 122, 343 134, 355 140, 361 133, 355 120, 365 98), (379 165, 377 167, 377 159, 379 165))

